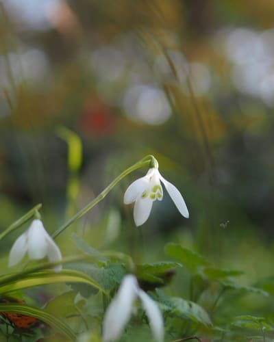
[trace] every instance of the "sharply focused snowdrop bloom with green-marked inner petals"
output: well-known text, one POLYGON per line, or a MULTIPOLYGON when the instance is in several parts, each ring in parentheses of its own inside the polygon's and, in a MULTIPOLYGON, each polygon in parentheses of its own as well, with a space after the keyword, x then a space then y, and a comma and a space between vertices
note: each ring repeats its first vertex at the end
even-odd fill
POLYGON ((162 200, 163 190, 161 182, 164 184, 166 191, 169 193, 169 196, 171 196, 171 199, 179 212, 185 218, 189 217, 186 203, 177 187, 166 181, 166 179, 161 176, 158 168, 150 168, 145 176, 129 185, 124 195, 125 205, 135 202, 134 222, 136 226, 141 226, 147 221, 153 202, 155 200, 162 200))

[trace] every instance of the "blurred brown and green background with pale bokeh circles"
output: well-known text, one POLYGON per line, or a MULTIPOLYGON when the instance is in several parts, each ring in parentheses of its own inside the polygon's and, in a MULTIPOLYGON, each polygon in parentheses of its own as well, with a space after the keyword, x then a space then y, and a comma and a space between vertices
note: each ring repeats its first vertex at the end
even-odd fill
MULTIPOLYGON (((0 228, 41 202, 53 233, 155 155, 182 192, 153 205, 138 254, 125 189, 58 237, 154 261, 184 244, 256 282, 273 272, 274 3, 2 0, 0 228), (153 242, 153 244, 152 244, 153 242)), ((5 256, 10 243, 1 248, 5 256)))

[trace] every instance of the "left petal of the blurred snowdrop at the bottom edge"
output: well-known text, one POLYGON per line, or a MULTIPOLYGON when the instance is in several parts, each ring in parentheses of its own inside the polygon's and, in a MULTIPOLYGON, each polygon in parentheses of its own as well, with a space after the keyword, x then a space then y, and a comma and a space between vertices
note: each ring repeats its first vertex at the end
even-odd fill
POLYGON ((103 319, 103 342, 119 339, 132 315, 132 305, 137 296, 137 281, 131 274, 125 276, 114 300, 103 319))

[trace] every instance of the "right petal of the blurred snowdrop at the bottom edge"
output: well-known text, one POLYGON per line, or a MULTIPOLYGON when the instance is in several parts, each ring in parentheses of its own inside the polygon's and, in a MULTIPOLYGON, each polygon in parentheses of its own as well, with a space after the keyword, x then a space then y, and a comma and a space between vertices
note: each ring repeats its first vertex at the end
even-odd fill
POLYGON ((153 336, 156 341, 163 341, 164 339, 164 320, 162 318, 162 313, 158 305, 152 300, 147 293, 139 290, 138 293, 140 300, 142 301, 142 305, 145 308, 145 312, 147 313, 147 317, 149 318, 149 325, 153 332, 153 336))

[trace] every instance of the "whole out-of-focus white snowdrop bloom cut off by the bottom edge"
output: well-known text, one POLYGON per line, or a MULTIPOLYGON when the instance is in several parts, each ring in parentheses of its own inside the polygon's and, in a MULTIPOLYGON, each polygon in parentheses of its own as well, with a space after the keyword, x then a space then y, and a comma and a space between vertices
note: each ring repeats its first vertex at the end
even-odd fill
POLYGON ((103 342, 115 341, 121 337, 123 329, 134 311, 134 302, 139 298, 149 319, 153 337, 161 342, 164 339, 164 321, 157 304, 140 289, 132 274, 123 278, 119 291, 110 303, 103 319, 103 342))

